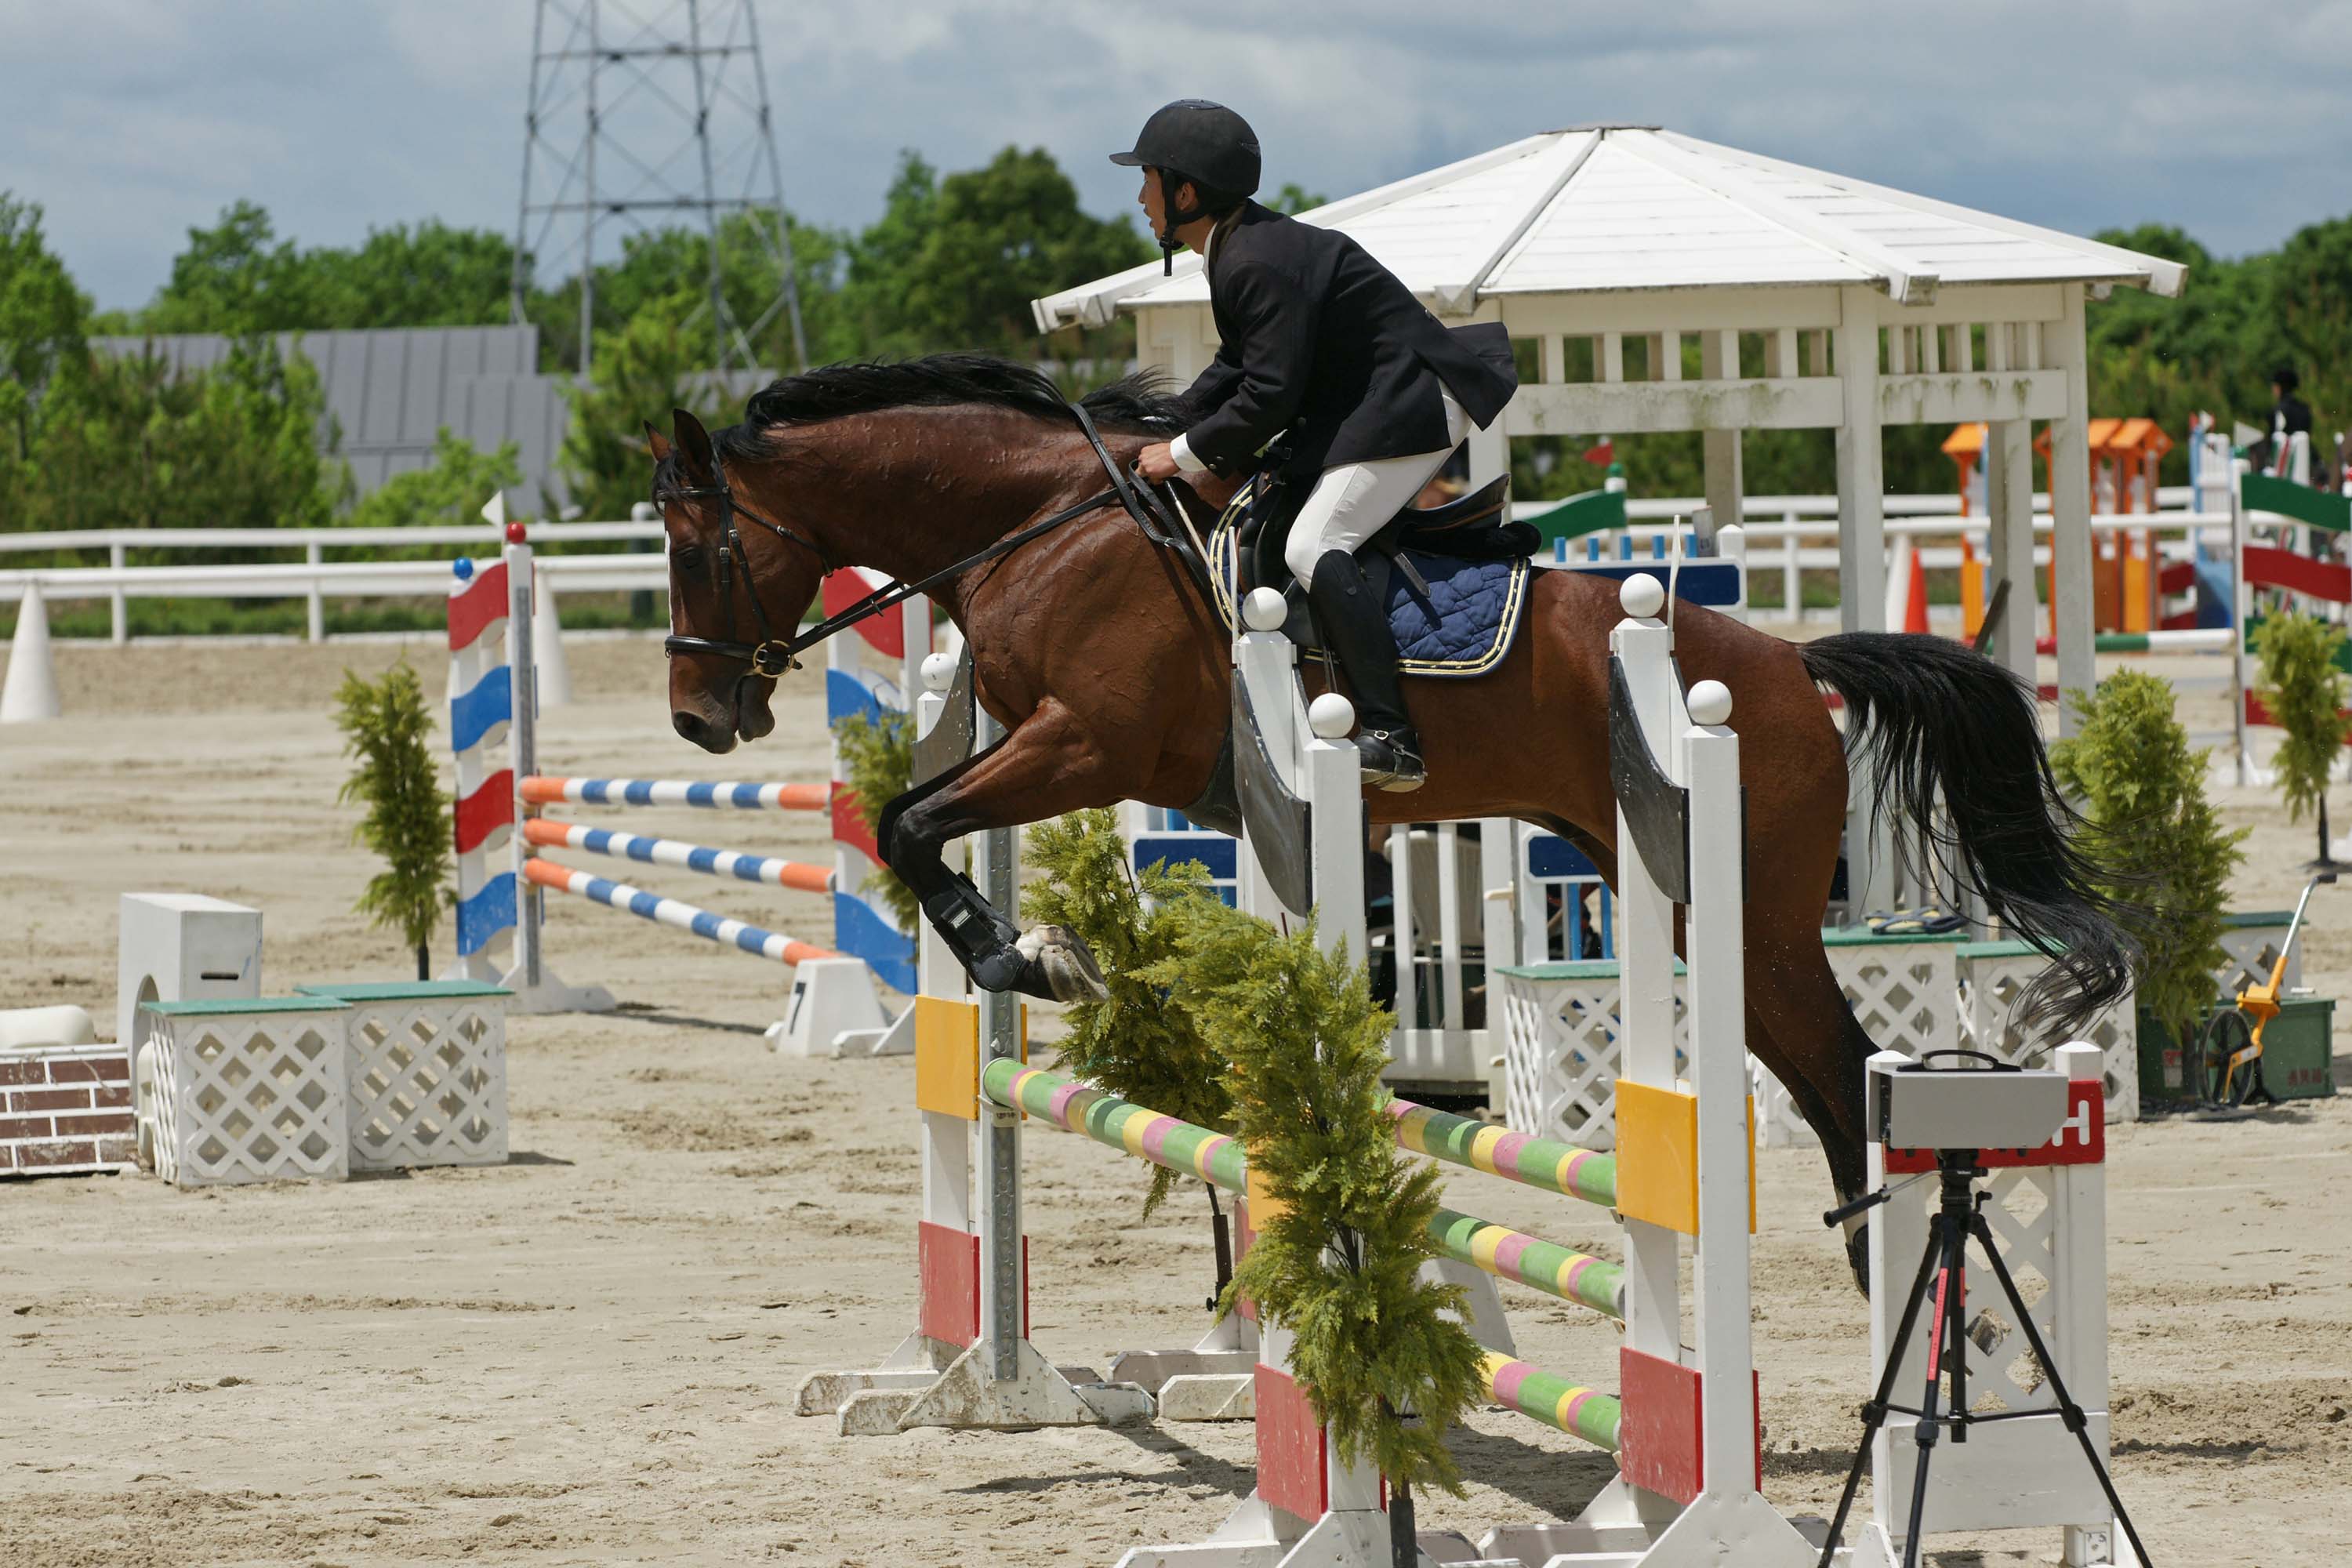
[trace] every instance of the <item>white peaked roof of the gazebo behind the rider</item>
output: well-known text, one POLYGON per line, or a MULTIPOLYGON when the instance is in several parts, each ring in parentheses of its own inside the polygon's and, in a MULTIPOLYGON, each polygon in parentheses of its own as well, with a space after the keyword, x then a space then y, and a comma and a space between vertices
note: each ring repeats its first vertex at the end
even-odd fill
MULTIPOLYGON (((2185 268, 2053 228, 1825 174, 1653 125, 1512 141, 1301 214, 1341 228, 1446 315, 1512 294, 2103 282, 2178 294, 2185 268)), ((1040 331, 1200 306, 1200 256, 1033 301, 1040 331)))

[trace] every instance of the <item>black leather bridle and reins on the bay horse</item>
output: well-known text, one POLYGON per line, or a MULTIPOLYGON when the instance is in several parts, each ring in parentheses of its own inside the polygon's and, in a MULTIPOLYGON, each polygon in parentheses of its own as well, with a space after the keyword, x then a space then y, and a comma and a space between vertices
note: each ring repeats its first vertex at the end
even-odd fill
POLYGON ((1037 538, 1040 534, 1049 534, 1051 529, 1058 529, 1061 524, 1070 522, 1073 517, 1084 517, 1087 512, 1096 512, 1096 510, 1110 505, 1112 501, 1117 501, 1120 505, 1127 508, 1127 515, 1136 520, 1136 527, 1143 529, 1145 538, 1150 538, 1160 548, 1176 550, 1178 559, 1183 559, 1183 564, 1190 571, 1192 581, 1202 588, 1202 592, 1207 592, 1209 590, 1209 569, 1207 569, 1209 552, 1202 545, 1200 534, 1192 531, 1192 522, 1183 515, 1183 508, 1176 505, 1174 501, 1164 501, 1145 480, 1141 480, 1141 477, 1127 473, 1124 468, 1120 468, 1120 461, 1115 456, 1110 456, 1110 447, 1103 444, 1103 435, 1094 428, 1094 416, 1087 414, 1087 409, 1082 404, 1063 400, 1063 407, 1077 418, 1080 430, 1087 433, 1087 442, 1094 447, 1096 461, 1103 465, 1103 473, 1110 477, 1110 489, 1096 491, 1096 494, 1087 496, 1084 501, 1080 501, 1077 505, 1065 505, 1063 510, 1054 512, 1051 517, 1047 517, 1042 522, 1033 522, 1025 529, 1007 534, 1004 538, 1000 538, 997 543, 988 545, 985 550, 967 555, 964 559, 955 562, 953 567, 943 567, 943 569, 934 571, 931 576, 927 576, 927 578, 922 578, 917 583, 891 581, 884 588, 875 590, 873 595, 858 599, 856 604, 851 604, 842 614, 826 616, 823 621, 818 621, 809 630, 800 632, 797 637, 776 637, 776 628, 769 625, 769 621, 767 621, 767 607, 760 604, 760 583, 750 574, 750 552, 743 548, 743 529, 736 527, 736 517, 739 515, 741 517, 750 517, 762 529, 771 531, 776 538, 781 538, 786 543, 793 543, 793 545, 800 545, 802 550, 807 550, 809 555, 814 555, 816 562, 828 574, 840 571, 842 562, 837 562, 833 557, 833 552, 826 550, 826 545, 821 545, 818 541, 809 538, 807 534, 788 529, 786 524, 781 524, 781 522, 776 522, 771 517, 762 517, 760 512, 753 512, 753 510, 739 505, 736 498, 734 498, 734 489, 727 484, 727 465, 720 461, 720 454, 713 447, 710 449, 710 484, 694 484, 694 487, 687 487, 687 489, 673 489, 668 494, 675 496, 675 498, 680 498, 680 501, 717 501, 720 503, 720 571, 717 571, 717 578, 720 578, 720 602, 727 604, 727 637, 687 637, 682 632, 670 632, 668 637, 663 637, 661 651, 666 656, 675 656, 675 654, 710 654, 715 658, 736 658, 736 661, 750 665, 753 675, 764 675, 767 679, 779 679, 788 670, 797 670, 800 668, 800 656, 807 654, 809 649, 814 649, 816 644, 826 642, 835 632, 849 630, 858 621, 868 621, 873 616, 880 616, 884 609, 894 609, 898 604, 906 604, 915 595, 927 592, 934 583, 943 583, 950 576, 957 576, 962 571, 971 571, 974 567, 981 567, 981 564, 993 562, 997 557, 1011 555, 1014 550, 1018 550, 1028 541, 1037 538), (1178 527, 1183 529, 1185 536, 1190 536, 1192 548, 1197 550, 1195 557, 1183 557, 1183 550, 1178 548, 1178 534, 1176 534, 1178 527), (736 630, 734 628, 734 569, 736 569, 736 564, 743 567, 743 590, 750 597, 750 614, 760 623, 760 642, 736 642, 734 639, 734 630, 736 630))

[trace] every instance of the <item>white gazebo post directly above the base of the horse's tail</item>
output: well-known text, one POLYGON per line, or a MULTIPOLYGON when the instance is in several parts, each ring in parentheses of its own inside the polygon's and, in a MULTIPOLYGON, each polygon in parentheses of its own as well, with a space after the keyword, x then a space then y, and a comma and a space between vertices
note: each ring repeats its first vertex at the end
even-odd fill
MULTIPOLYGON (((1886 630, 1886 454, 1879 437, 1879 294, 1867 284, 1837 292, 1830 357, 1842 386, 1837 421, 1837 621, 1846 632, 1886 630)), ((1872 835, 1867 780, 1849 780, 1846 905, 1856 917, 1893 905, 1896 858, 1884 832, 1872 835)))

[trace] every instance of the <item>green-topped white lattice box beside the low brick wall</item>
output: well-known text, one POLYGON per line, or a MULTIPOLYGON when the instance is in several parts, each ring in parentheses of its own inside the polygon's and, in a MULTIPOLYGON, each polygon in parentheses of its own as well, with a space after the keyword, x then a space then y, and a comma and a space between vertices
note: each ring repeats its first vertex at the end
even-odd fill
POLYGON ((325 997, 141 1006, 139 1164, 181 1187, 350 1175, 348 1013, 325 997))

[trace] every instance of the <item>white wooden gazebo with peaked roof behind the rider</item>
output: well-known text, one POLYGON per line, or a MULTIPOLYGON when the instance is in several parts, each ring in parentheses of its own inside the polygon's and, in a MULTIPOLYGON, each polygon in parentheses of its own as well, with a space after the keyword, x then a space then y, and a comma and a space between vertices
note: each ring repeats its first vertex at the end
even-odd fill
MULTIPOLYGON (((1837 430, 1846 630, 1886 614, 1879 430, 1987 423, 1990 562, 2011 607, 1994 656, 2027 679, 2046 421, 2072 729, 2065 693, 2093 684, 2084 296, 2178 294, 2180 266, 1651 125, 1543 132, 1301 216, 1345 230, 1439 317, 1536 343, 1541 378, 1470 440, 1472 482, 1508 468, 1515 435, 1703 430, 1708 505, 1729 522, 1740 430, 1837 430)), ((1035 301, 1042 331, 1120 313, 1145 364, 1190 378, 1216 353, 1192 254, 1174 277, 1155 261, 1035 301)))

